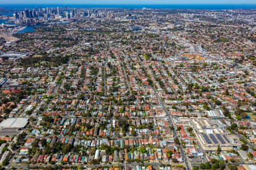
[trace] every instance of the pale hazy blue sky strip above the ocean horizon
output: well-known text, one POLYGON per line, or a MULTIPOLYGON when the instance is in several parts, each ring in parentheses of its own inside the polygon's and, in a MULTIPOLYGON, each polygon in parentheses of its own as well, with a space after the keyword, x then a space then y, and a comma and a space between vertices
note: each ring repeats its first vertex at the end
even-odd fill
POLYGON ((0 4, 255 4, 256 0, 0 0, 0 4))

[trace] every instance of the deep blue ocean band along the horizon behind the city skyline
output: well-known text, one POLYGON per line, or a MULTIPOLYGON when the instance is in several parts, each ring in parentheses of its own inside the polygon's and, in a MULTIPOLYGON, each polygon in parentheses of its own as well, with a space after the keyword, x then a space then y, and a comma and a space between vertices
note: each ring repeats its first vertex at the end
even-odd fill
MULTIPOLYGON (((24 8, 35 8, 35 7, 65 7, 65 4, 19 4, 19 5, 1 5, 2 7, 9 8, 9 9, 24 9, 24 8)), ((67 4, 67 7, 76 7, 76 8, 179 8, 179 9, 205 9, 205 10, 228 10, 228 9, 255 9, 256 4, 204 4, 204 5, 72 5, 72 4, 67 4)))

